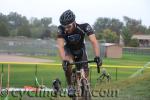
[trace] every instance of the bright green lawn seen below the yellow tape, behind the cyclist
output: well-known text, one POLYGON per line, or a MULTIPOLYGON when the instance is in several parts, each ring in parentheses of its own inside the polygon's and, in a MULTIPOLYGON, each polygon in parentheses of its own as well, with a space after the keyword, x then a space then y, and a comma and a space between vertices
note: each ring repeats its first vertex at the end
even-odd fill
MULTIPOLYGON (((110 73, 112 81, 123 80, 128 78, 137 68, 106 68, 107 72, 110 73), (117 73, 117 77, 116 77, 117 73)), ((35 86, 35 65, 10 65, 10 86, 11 87, 24 87, 26 85, 35 86)), ((91 67, 91 84, 95 85, 96 79, 100 76, 97 73, 96 67, 91 67)), ((47 87, 51 87, 51 83, 55 78, 60 78, 63 87, 66 86, 64 72, 61 66, 48 66, 48 65, 38 65, 37 66, 37 78, 39 83, 43 83, 47 87)), ((3 77, 3 87, 7 86, 7 65, 4 65, 4 77, 3 77)))

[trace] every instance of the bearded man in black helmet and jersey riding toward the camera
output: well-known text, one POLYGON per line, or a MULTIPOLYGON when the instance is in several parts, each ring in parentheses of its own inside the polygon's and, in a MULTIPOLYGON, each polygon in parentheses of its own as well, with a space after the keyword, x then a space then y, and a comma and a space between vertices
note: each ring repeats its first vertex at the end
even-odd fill
MULTIPOLYGON (((68 95, 72 94, 71 84, 71 66, 69 62, 87 61, 86 48, 84 43, 85 35, 93 46, 97 65, 101 66, 100 48, 92 27, 88 23, 78 24, 75 21, 75 15, 71 10, 66 10, 60 16, 60 26, 58 26, 57 44, 62 67, 65 71, 65 76, 68 84, 68 95)), ((83 64, 82 68, 85 71, 85 76, 88 77, 88 64, 83 64)))

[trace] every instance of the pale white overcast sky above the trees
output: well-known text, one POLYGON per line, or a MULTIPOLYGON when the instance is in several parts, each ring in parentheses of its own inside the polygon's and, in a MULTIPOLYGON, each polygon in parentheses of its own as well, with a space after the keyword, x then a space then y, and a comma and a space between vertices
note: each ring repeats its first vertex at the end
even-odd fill
POLYGON ((98 17, 118 18, 123 16, 142 20, 150 26, 150 0, 0 0, 0 12, 17 12, 28 19, 31 17, 52 17, 59 25, 59 16, 70 9, 78 23, 94 24, 98 17))

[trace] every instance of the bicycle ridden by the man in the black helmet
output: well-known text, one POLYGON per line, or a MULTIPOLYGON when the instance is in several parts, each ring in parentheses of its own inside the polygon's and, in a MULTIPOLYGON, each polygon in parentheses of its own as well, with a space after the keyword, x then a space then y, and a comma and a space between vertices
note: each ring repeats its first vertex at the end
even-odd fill
MULTIPOLYGON (((75 65, 75 68, 72 69, 71 82, 73 88, 75 90, 74 96, 72 96, 72 100, 78 100, 82 98, 82 100, 91 100, 91 91, 90 91, 90 83, 88 79, 85 77, 85 72, 83 68, 77 68, 77 64, 84 63, 93 63, 94 60, 89 61, 79 61, 70 63, 70 65, 75 65)), ((100 66, 97 65, 97 71, 100 72, 100 66)))

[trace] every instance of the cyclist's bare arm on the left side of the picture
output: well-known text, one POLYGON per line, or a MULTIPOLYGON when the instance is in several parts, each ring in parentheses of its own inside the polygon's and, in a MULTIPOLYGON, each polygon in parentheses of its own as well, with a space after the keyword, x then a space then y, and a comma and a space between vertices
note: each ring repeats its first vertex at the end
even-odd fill
POLYGON ((64 39, 57 38, 58 52, 61 60, 65 60, 64 39))

